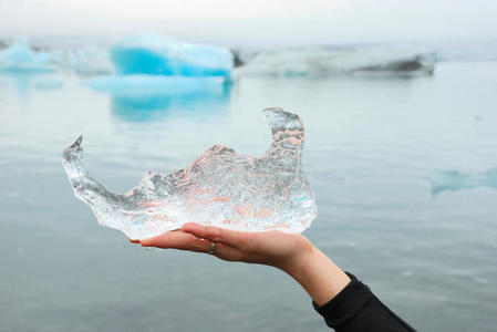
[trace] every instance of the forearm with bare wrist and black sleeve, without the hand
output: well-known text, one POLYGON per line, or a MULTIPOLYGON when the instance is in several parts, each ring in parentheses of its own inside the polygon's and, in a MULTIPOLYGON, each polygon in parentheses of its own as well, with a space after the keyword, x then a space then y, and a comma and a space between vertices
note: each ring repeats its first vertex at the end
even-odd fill
POLYGON ((365 284, 349 277, 310 242, 306 252, 283 270, 303 287, 315 310, 335 331, 414 331, 365 284))

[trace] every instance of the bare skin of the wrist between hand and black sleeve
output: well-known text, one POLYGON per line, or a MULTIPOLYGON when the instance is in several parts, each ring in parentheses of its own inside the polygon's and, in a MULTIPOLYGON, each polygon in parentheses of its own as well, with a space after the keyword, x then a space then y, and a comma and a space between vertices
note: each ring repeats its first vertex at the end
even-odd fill
POLYGON ((297 260, 283 270, 302 286, 318 305, 330 301, 351 281, 345 272, 310 242, 297 260))

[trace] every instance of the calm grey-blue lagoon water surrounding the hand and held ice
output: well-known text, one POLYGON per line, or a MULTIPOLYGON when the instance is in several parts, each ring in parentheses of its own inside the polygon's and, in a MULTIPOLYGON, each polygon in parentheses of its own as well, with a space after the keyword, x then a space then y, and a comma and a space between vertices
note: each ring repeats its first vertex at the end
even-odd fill
POLYGON ((319 216, 306 231, 420 331, 494 331, 497 190, 432 196, 436 170, 497 166, 497 62, 435 76, 244 79, 215 96, 126 100, 70 74, 0 77, 3 331, 323 331, 275 269, 144 250, 74 198, 62 149, 125 193, 147 169, 184 167, 215 143, 261 155, 260 111, 304 122, 319 216))

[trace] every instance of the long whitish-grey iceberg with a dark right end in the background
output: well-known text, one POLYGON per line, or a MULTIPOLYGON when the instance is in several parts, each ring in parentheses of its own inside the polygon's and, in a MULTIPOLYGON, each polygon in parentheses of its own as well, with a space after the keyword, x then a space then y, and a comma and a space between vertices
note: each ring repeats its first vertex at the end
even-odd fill
POLYGON ((239 68, 239 75, 327 76, 336 74, 433 74, 435 54, 383 48, 307 48, 263 52, 239 68))

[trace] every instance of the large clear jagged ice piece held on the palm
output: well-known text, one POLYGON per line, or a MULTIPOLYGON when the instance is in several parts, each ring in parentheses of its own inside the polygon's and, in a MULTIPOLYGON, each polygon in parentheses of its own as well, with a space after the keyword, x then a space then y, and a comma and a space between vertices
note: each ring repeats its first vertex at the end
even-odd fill
POLYGON ((90 177, 82 163, 81 136, 64 149, 62 164, 75 196, 92 208, 99 224, 131 239, 178 229, 188 221, 301 232, 318 214, 302 169, 302 121, 281 108, 263 114, 273 142, 262 157, 215 145, 185 169, 169 175, 147 172, 125 195, 113 194, 90 177))

